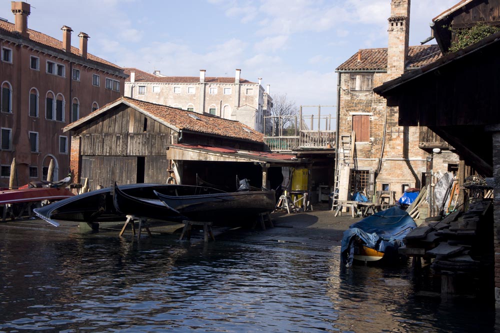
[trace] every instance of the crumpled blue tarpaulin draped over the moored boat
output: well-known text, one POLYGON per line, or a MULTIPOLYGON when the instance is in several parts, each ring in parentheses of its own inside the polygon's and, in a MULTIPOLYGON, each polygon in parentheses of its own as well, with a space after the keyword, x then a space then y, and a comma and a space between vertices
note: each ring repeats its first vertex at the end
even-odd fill
POLYGON ((366 247, 385 253, 403 247, 403 238, 414 228, 415 221, 397 206, 365 217, 344 231, 340 249, 342 262, 347 267, 352 264, 355 236, 366 247))

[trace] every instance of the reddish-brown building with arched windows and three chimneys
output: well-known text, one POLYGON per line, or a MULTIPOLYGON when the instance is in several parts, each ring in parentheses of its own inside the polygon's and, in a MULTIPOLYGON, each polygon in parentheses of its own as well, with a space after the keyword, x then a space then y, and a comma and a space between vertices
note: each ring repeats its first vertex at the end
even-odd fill
POLYGON ((69 171, 69 137, 62 127, 123 93, 123 70, 87 52, 80 32, 62 26, 62 41, 28 29, 30 5, 11 2, 15 22, 0 20, 0 187, 16 162, 14 186, 45 178, 50 161, 54 180, 69 171))

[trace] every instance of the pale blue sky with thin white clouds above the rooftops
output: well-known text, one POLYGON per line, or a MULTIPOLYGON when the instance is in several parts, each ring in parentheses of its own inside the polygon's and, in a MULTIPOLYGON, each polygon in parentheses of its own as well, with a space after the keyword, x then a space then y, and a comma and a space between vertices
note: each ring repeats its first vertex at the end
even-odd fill
MULTIPOLYGON (((123 67, 167 76, 262 78, 270 95, 299 105, 335 105, 335 68, 360 48, 387 47, 390 0, 28 0, 28 28, 123 67)), ((410 45, 459 0, 413 0, 410 45)), ((13 22, 10 1, 0 17, 13 22)), ((429 44, 435 41, 429 42, 429 44)), ((333 111, 334 113, 334 111, 333 111)))

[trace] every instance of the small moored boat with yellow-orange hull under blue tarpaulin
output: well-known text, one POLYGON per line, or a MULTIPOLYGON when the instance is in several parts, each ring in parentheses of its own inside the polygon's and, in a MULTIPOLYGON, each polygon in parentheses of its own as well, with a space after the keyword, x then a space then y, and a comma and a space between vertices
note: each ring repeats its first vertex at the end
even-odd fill
POLYGON ((340 256, 346 267, 362 262, 399 259, 397 249, 403 238, 416 228, 415 221, 397 206, 370 215, 344 231, 340 256))

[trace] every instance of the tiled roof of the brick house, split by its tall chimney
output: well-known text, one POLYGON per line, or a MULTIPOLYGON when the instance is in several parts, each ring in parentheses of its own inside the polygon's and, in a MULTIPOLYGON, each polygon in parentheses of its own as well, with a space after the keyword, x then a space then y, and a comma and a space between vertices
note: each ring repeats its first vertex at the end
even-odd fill
MULTIPOLYGON (((336 70, 386 70, 387 48, 365 48, 361 52, 361 61, 358 61, 358 52, 337 67, 336 70)), ((434 62, 441 57, 437 45, 410 46, 406 68, 418 68, 434 62)))

